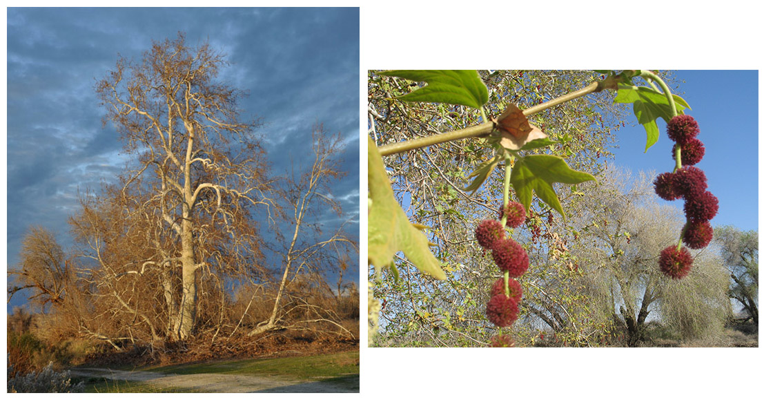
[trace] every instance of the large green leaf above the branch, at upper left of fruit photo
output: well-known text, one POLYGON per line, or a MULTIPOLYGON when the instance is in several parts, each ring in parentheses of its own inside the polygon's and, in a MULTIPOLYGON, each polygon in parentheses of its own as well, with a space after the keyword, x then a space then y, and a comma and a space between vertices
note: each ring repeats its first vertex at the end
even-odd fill
POLYGON ((481 108, 489 102, 489 89, 476 70, 389 70, 378 73, 427 82, 427 85, 404 94, 402 101, 427 101, 481 108))

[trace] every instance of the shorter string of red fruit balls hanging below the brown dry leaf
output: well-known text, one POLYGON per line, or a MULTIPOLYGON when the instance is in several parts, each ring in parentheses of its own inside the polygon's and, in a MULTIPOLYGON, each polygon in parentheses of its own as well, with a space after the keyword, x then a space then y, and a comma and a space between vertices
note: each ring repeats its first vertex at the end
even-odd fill
POLYGON ((526 210, 521 203, 509 202, 499 208, 499 218, 500 221, 481 221, 475 229, 475 238, 482 248, 492 251, 494 262, 504 272, 504 277, 492 285, 486 316, 496 326, 510 326, 518 319, 518 305, 523 296, 521 285, 513 278, 522 276, 529 268, 529 255, 518 242, 506 237, 505 226, 523 224, 526 210))

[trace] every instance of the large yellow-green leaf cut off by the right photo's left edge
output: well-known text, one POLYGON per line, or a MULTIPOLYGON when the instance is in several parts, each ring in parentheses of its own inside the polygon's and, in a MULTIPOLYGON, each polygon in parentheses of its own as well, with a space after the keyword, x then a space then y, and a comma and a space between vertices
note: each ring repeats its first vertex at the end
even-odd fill
POLYGON ((403 251, 406 258, 421 272, 445 279, 440 262, 429 249, 429 241, 421 230, 408 221, 404 210, 394 199, 389 176, 373 139, 368 139, 368 190, 373 200, 368 211, 368 262, 376 268, 393 265, 394 255, 403 251))

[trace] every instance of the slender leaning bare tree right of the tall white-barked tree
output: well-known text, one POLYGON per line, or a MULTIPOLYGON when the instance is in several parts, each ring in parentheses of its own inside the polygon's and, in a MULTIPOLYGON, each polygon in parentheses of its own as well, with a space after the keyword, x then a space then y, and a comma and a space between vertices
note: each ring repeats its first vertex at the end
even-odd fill
MULTIPOLYGON (((344 176, 339 169, 340 160, 337 159, 342 149, 340 135, 330 137, 325 135, 322 126, 315 128, 312 135, 313 161, 310 170, 301 176, 288 176, 284 180, 284 189, 281 190, 281 200, 286 204, 284 207, 284 217, 291 225, 291 235, 286 237, 283 233, 284 228, 278 227, 277 238, 282 246, 282 268, 281 280, 279 281, 274 307, 267 320, 258 323, 249 335, 253 336, 269 330, 292 327, 288 321, 284 321, 284 316, 292 313, 295 309, 303 308, 310 313, 306 313, 305 321, 300 322, 325 322, 333 323, 341 330, 351 333, 335 323, 330 317, 332 310, 318 309, 301 299, 298 296, 288 296, 288 287, 294 281, 306 276, 304 280, 308 281, 309 275, 321 276, 320 272, 324 270, 325 265, 335 268, 339 265, 339 251, 336 247, 339 245, 351 245, 355 250, 357 245, 351 238, 347 238, 343 233, 343 224, 330 234, 325 234, 323 225, 318 219, 312 219, 314 215, 325 214, 325 211, 332 211, 336 217, 341 217, 342 210, 335 195, 331 192, 329 184, 333 180, 344 176), (311 221, 310 221, 311 220, 311 221), (292 299, 288 299, 293 297, 292 299)), ((326 282, 318 282, 318 285, 325 285, 326 282)), ((329 287, 328 287, 329 290, 329 287)), ((299 322, 299 321, 296 321, 299 322)))

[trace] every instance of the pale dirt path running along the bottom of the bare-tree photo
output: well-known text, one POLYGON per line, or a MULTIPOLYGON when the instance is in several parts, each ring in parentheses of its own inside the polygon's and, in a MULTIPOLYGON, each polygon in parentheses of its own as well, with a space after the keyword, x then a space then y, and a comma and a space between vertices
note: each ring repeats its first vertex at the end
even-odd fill
POLYGON ((256 375, 237 374, 162 374, 145 371, 120 371, 104 368, 74 368, 73 377, 107 378, 115 381, 143 381, 162 388, 189 388, 214 393, 342 393, 352 392, 329 382, 279 380, 256 375))

